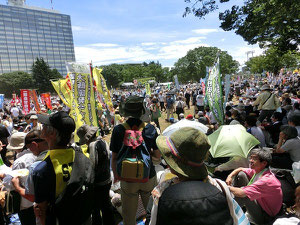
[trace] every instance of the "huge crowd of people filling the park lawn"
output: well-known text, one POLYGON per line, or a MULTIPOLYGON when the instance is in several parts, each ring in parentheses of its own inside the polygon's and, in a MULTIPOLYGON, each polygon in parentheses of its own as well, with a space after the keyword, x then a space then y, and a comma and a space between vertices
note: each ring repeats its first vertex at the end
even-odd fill
POLYGON ((287 205, 276 176, 295 176, 300 167, 298 74, 232 80, 224 125, 240 124, 259 141, 247 158, 209 154, 207 136, 222 124, 199 84, 152 88, 149 95, 114 90, 112 103, 113 110, 97 110, 99 127, 77 129, 56 98, 52 110, 36 113, 32 106, 27 115, 21 105, 4 104, 0 224, 13 213, 22 225, 300 223, 299 180, 287 205), (180 120, 202 123, 207 132, 183 127, 163 134, 162 122, 180 120), (20 196, 14 212, 7 201, 13 192, 20 196))

